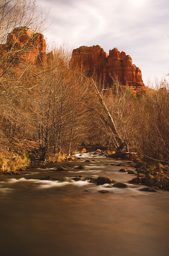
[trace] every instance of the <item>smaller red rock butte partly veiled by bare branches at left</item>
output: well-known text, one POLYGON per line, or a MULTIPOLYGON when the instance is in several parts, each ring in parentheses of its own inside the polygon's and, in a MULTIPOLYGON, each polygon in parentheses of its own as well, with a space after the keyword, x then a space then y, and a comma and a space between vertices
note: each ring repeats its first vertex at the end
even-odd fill
POLYGON ((8 34, 6 44, 3 45, 3 52, 1 52, 4 56, 9 56, 8 54, 11 53, 10 58, 15 59, 15 65, 19 63, 42 64, 47 58, 44 35, 34 33, 27 27, 14 28, 8 34))

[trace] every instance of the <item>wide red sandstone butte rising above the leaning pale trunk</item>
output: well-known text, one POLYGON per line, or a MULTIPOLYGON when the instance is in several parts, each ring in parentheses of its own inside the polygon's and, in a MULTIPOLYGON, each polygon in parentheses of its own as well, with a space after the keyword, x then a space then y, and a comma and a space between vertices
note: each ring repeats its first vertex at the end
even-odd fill
POLYGON ((71 61, 82 62, 87 66, 89 74, 94 74, 97 78, 101 77, 109 86, 117 76, 122 85, 128 84, 132 91, 145 87, 141 70, 132 63, 130 55, 126 55, 125 52, 120 53, 117 48, 107 54, 99 45, 80 46, 73 50, 71 61))

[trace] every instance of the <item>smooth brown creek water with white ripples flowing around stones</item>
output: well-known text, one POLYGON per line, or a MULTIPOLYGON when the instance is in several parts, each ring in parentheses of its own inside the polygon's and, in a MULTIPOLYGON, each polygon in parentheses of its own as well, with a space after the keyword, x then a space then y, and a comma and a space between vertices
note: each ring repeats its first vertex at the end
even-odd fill
POLYGON ((49 169, 0 175, 0 255, 168 256, 169 191, 140 191, 128 184, 134 175, 111 163, 126 161, 85 153, 49 169), (67 171, 54 171, 58 166, 67 171), (73 181, 77 175, 107 175, 129 188, 73 181), (46 176, 55 180, 41 180, 46 176))

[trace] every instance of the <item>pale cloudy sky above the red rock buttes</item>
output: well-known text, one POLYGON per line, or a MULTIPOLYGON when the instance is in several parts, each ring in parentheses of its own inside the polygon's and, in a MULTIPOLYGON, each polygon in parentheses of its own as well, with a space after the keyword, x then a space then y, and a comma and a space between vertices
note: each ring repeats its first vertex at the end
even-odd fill
MULTIPOLYGON (((99 44, 131 55, 143 82, 169 73, 169 0, 37 0, 50 6, 48 42, 99 44)), ((168 77, 166 77, 168 79, 168 77)))

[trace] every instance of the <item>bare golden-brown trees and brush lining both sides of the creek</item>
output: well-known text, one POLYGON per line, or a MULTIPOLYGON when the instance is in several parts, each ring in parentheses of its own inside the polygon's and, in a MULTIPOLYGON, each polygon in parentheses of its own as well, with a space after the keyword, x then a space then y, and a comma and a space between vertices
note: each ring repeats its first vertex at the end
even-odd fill
MULTIPOLYGON (((21 1, 17 4, 15 19, 23 6, 21 1)), ((31 2, 29 4, 31 6, 31 2)), ((145 161, 167 164, 169 84, 165 80, 156 80, 154 90, 147 90, 139 97, 117 79, 114 79, 112 88, 107 88, 104 81, 88 76, 83 64, 71 65, 71 51, 65 44, 54 46, 51 57, 39 66, 22 63, 30 47, 29 40, 22 48, 23 52, 12 45, 11 55, 6 60, 3 43, 14 25, 17 24, 18 31, 28 29, 26 25, 30 24, 36 35, 43 32, 44 23, 39 23, 43 14, 37 19, 33 16, 29 19, 32 8, 25 11, 19 23, 19 19, 11 23, 9 17, 3 15, 3 11, 1 13, 1 170, 18 170, 29 163, 29 158, 37 164, 45 160, 61 161, 83 144, 90 148, 97 145, 121 155, 134 152, 145 161), (34 20, 36 24, 33 24, 34 20), (16 51, 18 55, 14 58, 16 51), (34 149, 38 153, 33 154, 34 149), (28 159, 22 154, 28 155, 28 159), (12 160, 13 157, 16 160, 12 160)), ((35 10, 33 15, 36 16, 35 10)), ((134 155, 128 157, 133 159, 134 155)))

